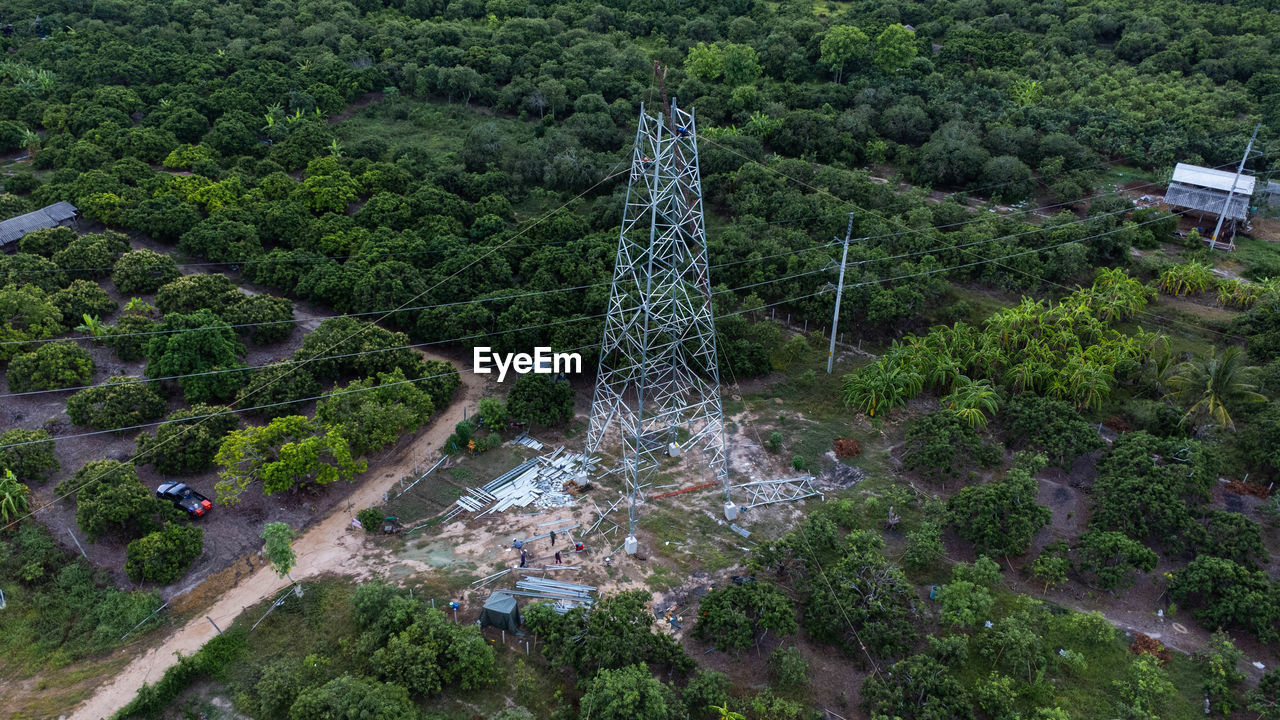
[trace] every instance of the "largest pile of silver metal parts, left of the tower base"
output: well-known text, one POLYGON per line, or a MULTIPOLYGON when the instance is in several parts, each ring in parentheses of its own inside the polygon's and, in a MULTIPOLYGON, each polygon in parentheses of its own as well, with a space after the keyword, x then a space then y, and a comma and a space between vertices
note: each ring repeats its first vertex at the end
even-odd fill
POLYGON ((516 465, 483 487, 467 488, 444 520, 449 521, 463 512, 475 512, 481 518, 511 507, 572 505, 576 500, 576 478, 590 477, 596 462, 599 457, 564 452, 564 446, 557 447, 554 452, 516 465))

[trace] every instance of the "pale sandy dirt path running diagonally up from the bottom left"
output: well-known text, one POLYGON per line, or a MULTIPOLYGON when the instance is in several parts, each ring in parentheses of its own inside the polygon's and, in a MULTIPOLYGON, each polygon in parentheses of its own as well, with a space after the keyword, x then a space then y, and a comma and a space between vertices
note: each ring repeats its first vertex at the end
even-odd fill
MULTIPOLYGON (((433 360, 447 360, 445 357, 428 354, 433 360)), ((460 368, 462 388, 458 397, 449 405, 448 410, 433 420, 430 428, 422 433, 416 442, 406 446, 387 464, 370 466, 365 474, 367 478, 347 502, 334 507, 326 518, 307 529, 293 543, 298 561, 293 568, 293 578, 297 580, 312 578, 325 573, 357 574, 357 568, 364 568, 357 562, 364 547, 362 533, 349 533, 351 514, 346 507, 369 507, 380 505, 383 493, 412 471, 413 450, 419 454, 435 450, 444 445, 444 439, 453 432, 453 427, 462 421, 463 409, 472 407, 480 400, 484 380, 475 373, 460 368)), ((236 587, 228 589, 223 596, 198 618, 170 634, 165 641, 140 657, 134 659, 119 674, 106 684, 99 687, 93 694, 81 703, 69 720, 100 720, 110 717, 114 712, 124 707, 138 693, 143 683, 154 683, 164 671, 178 661, 177 653, 193 655, 209 638, 214 637, 211 618, 223 629, 243 610, 256 605, 262 600, 280 593, 289 580, 280 578, 270 566, 264 566, 236 587), (207 615, 207 618, 206 618, 207 615)))

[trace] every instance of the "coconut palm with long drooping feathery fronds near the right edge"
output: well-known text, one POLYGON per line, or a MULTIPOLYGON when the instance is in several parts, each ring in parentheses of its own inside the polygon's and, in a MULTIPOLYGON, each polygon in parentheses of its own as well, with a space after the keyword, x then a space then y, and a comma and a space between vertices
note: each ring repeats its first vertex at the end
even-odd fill
POLYGON ((1178 366, 1169 378, 1171 396, 1190 404, 1183 421, 1192 416, 1204 416, 1211 421, 1235 429, 1231 409, 1247 402, 1266 402, 1257 389, 1257 368, 1244 365, 1240 348, 1230 346, 1221 352, 1198 356, 1178 366))

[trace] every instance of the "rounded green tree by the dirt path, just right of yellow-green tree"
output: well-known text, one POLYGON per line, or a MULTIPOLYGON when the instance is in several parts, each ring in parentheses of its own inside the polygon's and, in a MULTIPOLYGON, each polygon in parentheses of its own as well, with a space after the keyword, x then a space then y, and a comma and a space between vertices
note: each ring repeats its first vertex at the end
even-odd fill
POLYGON ((367 455, 396 442, 401 433, 425 425, 434 411, 431 396, 406 380, 397 368, 379 373, 376 379, 335 387, 316 405, 316 419, 329 425, 340 423, 352 438, 352 454, 367 455))

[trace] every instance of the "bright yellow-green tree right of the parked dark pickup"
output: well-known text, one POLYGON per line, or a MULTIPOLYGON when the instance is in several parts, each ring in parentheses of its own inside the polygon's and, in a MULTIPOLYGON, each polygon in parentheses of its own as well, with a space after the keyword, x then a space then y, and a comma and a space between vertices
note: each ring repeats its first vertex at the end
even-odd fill
POLYGON ((253 482, 262 495, 351 482, 367 464, 352 456, 342 428, 324 428, 301 415, 227 433, 215 461, 221 468, 218 502, 236 505, 253 482))

